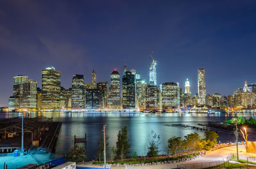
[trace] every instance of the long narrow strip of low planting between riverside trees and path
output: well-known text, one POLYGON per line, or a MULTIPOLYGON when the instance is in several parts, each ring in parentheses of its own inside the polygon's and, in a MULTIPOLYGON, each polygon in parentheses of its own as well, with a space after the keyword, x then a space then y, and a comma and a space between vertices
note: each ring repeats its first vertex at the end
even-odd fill
MULTIPOLYGON (((138 164, 138 163, 158 163, 158 162, 164 162, 164 161, 179 161, 180 159, 185 159, 185 158, 193 158, 194 156, 198 156, 199 153, 193 153, 193 154, 188 154, 188 155, 183 155, 183 156, 176 156, 176 157, 166 157, 166 158, 161 158, 161 157, 156 157, 156 158, 146 158, 146 160, 144 161, 143 158, 141 159, 129 159, 129 160, 116 160, 116 161, 107 161, 108 164, 120 164, 120 165, 124 165, 124 164, 128 164, 128 165, 134 165, 134 164, 138 164)), ((103 164, 104 162, 101 161, 94 161, 93 165, 100 165, 103 164)))

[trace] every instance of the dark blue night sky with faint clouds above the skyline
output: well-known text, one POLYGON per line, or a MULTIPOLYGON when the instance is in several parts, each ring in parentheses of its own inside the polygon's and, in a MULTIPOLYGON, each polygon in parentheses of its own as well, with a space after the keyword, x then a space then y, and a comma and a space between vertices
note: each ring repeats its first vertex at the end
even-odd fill
POLYGON ((1 1, 0 106, 8 105, 12 77, 28 75, 41 87, 41 70, 91 82, 109 80, 124 60, 148 81, 149 53, 158 84, 186 78, 197 91, 205 68, 207 93, 232 94, 256 82, 256 1, 1 1))

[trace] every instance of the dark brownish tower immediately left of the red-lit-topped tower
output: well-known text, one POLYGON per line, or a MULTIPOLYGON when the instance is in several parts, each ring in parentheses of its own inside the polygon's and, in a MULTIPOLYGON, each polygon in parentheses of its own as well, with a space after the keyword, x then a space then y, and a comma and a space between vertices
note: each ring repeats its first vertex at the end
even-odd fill
POLYGON ((100 92, 100 108, 108 107, 108 81, 97 83, 100 92))

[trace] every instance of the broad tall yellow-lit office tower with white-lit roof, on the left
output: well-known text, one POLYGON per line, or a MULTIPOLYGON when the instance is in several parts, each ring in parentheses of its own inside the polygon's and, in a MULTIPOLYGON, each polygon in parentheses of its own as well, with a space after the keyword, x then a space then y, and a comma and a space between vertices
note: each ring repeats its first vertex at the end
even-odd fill
POLYGON ((61 108, 60 75, 53 67, 42 70, 42 108, 61 108))

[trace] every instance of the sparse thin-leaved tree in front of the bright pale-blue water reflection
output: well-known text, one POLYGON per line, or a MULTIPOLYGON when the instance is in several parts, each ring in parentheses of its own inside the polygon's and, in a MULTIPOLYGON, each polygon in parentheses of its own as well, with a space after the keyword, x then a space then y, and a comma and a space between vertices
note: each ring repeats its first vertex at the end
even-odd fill
POLYGON ((157 135, 153 130, 151 131, 151 138, 148 145, 148 157, 156 157, 159 152, 160 135, 157 135))

